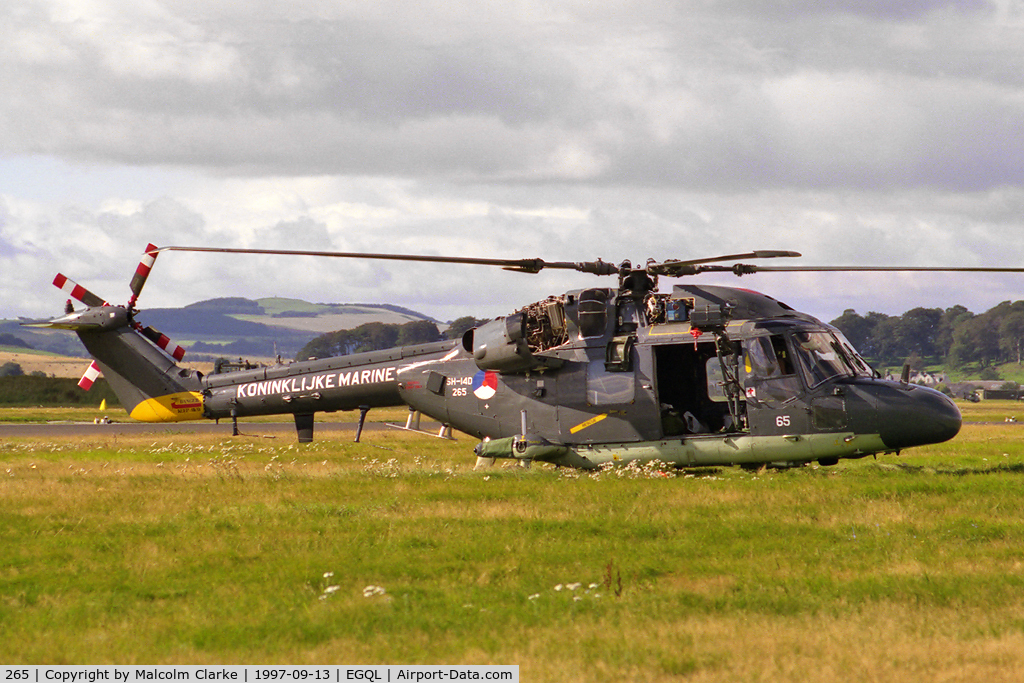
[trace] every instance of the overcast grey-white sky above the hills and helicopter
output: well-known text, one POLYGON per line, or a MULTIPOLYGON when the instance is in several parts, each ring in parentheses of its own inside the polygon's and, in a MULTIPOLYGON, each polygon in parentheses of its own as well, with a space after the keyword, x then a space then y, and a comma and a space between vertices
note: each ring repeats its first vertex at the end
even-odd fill
MULTIPOLYGON (((10 0, 0 42, 0 317, 59 313, 58 270, 127 301, 150 242, 1024 266, 1019 0, 10 0)), ((1024 274, 700 282, 824 319, 1024 298, 1024 274)), ((599 285, 171 252, 140 305, 451 319, 599 285)))

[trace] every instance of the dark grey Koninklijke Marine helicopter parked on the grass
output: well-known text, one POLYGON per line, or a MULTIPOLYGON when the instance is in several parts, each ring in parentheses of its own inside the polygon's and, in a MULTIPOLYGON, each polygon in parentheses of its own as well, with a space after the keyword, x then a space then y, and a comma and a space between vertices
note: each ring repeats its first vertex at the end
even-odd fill
MULTIPOLYGON (((505 458, 584 469, 659 461, 677 467, 799 466, 898 454, 945 441, 961 428, 942 393, 872 370, 837 329, 750 290, 659 278, 759 271, 1024 271, 1024 268, 760 266, 798 257, 754 251, 705 259, 546 262, 293 250, 150 245, 116 306, 57 275, 85 304, 30 323, 76 332, 129 415, 177 422, 294 416, 298 440, 318 412, 408 405, 480 439, 478 464, 505 458), (203 375, 177 364, 183 349, 136 321, 135 304, 158 254, 286 254, 492 265, 537 273, 571 269, 617 278, 551 296, 470 330, 461 340, 203 375), (725 265, 723 262, 733 261, 725 265)), ((83 378, 83 382, 86 378, 83 378)), ((91 381, 91 380, 88 380, 91 381)), ((415 416, 415 421, 414 421, 415 416)))

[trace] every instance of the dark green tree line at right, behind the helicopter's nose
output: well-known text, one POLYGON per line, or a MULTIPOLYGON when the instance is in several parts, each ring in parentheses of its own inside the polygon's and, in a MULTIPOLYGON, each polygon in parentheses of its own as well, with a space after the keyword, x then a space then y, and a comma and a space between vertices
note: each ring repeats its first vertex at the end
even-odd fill
POLYGON ((902 315, 861 315, 850 308, 831 324, 861 354, 883 364, 988 368, 1020 364, 1024 355, 1024 301, 1005 301, 981 314, 959 305, 913 308, 902 315))

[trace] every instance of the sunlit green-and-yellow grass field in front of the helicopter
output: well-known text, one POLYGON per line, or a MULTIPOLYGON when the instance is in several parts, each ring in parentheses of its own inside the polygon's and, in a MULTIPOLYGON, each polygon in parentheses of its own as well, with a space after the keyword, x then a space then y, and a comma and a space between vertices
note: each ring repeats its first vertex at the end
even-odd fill
POLYGON ((939 446, 758 473, 474 472, 472 439, 392 432, 14 439, 0 660, 1019 681, 1015 407, 965 407, 994 424, 939 446))

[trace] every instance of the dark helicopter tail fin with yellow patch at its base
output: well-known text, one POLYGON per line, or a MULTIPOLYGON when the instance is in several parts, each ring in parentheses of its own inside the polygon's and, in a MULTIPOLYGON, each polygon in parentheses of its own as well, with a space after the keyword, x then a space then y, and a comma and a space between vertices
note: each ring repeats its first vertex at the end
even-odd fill
POLYGON ((139 334, 120 306, 95 306, 31 327, 74 331, 128 414, 142 422, 203 417, 202 375, 178 366, 139 334))

